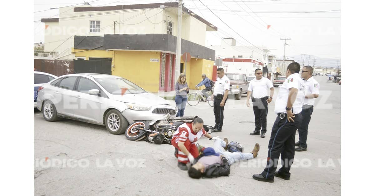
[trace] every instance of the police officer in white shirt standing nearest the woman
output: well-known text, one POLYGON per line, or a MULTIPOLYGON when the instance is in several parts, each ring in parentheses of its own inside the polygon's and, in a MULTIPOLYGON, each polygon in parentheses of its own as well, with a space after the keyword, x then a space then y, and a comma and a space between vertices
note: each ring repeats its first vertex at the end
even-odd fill
POLYGON ((231 84, 229 78, 224 74, 224 69, 216 70, 217 80, 213 89, 213 113, 215 115, 215 126, 213 132, 221 132, 224 120, 224 105, 228 98, 229 85, 231 84))

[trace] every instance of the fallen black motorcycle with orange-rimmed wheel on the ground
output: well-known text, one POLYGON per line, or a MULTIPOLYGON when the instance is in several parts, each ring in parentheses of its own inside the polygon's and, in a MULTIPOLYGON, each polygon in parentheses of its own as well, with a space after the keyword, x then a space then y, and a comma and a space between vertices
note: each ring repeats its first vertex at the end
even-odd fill
MULTIPOLYGON (((164 120, 156 121, 150 126, 147 121, 136 121, 127 127, 125 136, 130 141, 148 141, 156 144, 171 144, 172 136, 177 127, 183 123, 190 123, 198 116, 175 117, 167 114, 164 120)), ((204 125, 205 131, 213 129, 212 126, 204 125)))

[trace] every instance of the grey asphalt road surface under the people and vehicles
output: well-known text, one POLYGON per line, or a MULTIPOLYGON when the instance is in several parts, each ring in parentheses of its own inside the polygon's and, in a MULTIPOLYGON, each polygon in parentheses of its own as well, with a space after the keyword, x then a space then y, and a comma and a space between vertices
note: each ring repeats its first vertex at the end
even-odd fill
MULTIPOLYGON (((250 136, 254 114, 244 94, 241 100, 229 97, 223 131, 212 135, 240 142, 245 152, 257 142, 260 152, 255 159, 232 165, 229 177, 214 179, 189 178, 177 168, 171 145, 129 141, 104 126, 73 120, 47 122, 34 111, 34 195, 340 195, 341 85, 327 82, 326 76, 315 79, 321 94, 309 125, 308 151, 296 152, 289 181, 252 179, 266 164, 275 102, 269 104, 266 138, 250 136)), ((189 115, 214 125, 213 108, 207 103, 187 105, 185 116, 189 115)), ((207 138, 198 143, 213 144, 207 138)))

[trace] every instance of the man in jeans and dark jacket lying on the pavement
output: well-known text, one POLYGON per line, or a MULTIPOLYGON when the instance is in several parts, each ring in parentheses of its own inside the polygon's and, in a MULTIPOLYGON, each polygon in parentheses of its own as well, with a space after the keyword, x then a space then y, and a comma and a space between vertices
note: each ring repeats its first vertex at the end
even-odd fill
POLYGON ((199 179, 202 176, 207 178, 227 176, 230 173, 230 165, 238 160, 248 160, 257 157, 259 144, 256 143, 251 153, 242 153, 242 147, 237 142, 231 142, 228 145, 228 139, 224 141, 220 138, 215 139, 213 148, 208 147, 203 150, 203 156, 192 165, 188 171, 191 178, 199 179), (232 152, 224 152, 228 150, 232 152))

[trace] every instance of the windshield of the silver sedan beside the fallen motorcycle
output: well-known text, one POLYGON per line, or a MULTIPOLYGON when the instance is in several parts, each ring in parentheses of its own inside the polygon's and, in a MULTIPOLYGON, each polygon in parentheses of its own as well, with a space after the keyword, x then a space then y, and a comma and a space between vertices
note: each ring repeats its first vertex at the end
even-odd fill
POLYGON ((111 94, 147 93, 141 87, 124 78, 96 78, 95 80, 111 94))

